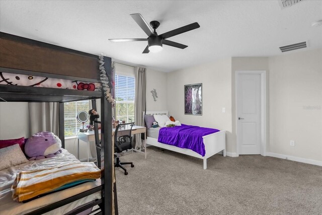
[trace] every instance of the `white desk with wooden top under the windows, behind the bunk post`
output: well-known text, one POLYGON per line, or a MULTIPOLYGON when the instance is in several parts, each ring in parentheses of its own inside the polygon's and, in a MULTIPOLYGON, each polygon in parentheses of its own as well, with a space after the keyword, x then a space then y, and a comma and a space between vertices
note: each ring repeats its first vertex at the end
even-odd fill
MULTIPOLYGON (((126 128, 120 128, 120 130, 126 130, 126 128)), ((112 130, 112 135, 114 136, 114 131, 115 128, 113 128, 112 130)), ((146 128, 143 126, 137 126, 137 125, 133 125, 132 127, 132 134, 138 134, 138 133, 144 133, 144 157, 146 159, 146 128)), ((77 135, 78 141, 77 141, 77 159, 79 160, 79 139, 85 141, 87 143, 87 162, 90 161, 90 142, 91 141, 95 141, 95 134, 94 134, 94 130, 92 131, 86 131, 86 132, 79 132, 77 135)), ((99 130, 99 138, 101 139, 101 130, 99 130)), ((141 152, 138 150, 133 149, 136 152, 141 152)), ((143 152, 141 152, 143 153, 143 152)))

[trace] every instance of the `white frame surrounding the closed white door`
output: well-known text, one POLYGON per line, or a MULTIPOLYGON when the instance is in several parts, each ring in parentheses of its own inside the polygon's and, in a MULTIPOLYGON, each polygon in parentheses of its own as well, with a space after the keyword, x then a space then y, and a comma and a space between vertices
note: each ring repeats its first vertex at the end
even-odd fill
POLYGON ((259 74, 261 75, 261 155, 266 156, 266 70, 236 70, 235 71, 235 95, 236 95, 236 154, 239 156, 239 141, 238 141, 238 104, 237 104, 237 89, 238 89, 238 76, 241 74, 259 74))

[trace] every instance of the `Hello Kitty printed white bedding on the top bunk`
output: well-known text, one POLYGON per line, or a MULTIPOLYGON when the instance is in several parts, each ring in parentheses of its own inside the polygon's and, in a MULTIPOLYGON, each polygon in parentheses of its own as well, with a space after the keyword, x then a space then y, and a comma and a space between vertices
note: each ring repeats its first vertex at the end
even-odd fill
POLYGON ((73 81, 66 79, 54 79, 2 72, 0 73, 0 84, 88 91, 97 91, 101 86, 99 83, 73 81))

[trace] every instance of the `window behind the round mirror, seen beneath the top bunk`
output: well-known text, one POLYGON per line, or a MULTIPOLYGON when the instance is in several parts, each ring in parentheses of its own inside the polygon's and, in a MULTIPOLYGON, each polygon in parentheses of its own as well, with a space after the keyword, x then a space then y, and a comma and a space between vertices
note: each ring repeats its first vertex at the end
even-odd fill
POLYGON ((83 128, 83 124, 76 119, 77 113, 82 110, 88 112, 90 109, 90 100, 64 103, 65 137, 76 136, 79 128, 83 128))

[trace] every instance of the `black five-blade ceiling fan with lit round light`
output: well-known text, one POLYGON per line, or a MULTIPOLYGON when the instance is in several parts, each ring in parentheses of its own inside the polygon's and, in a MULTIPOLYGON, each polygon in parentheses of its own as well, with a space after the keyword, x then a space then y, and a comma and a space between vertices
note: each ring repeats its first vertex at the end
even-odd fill
POLYGON ((146 23, 146 21, 143 19, 141 14, 130 14, 130 16, 134 19, 134 21, 141 27, 141 29, 147 34, 148 38, 134 38, 134 39, 109 39, 111 42, 133 42, 133 41, 147 41, 147 46, 143 50, 142 53, 149 53, 151 52, 158 52, 162 50, 163 45, 170 45, 176 48, 187 48, 187 45, 173 42, 170 40, 167 40, 169 37, 176 36, 178 34, 185 33, 187 31, 194 30, 196 28, 199 28, 200 25, 195 22, 186 26, 183 26, 181 28, 177 28, 172 31, 168 31, 166 33, 158 35, 155 31, 157 27, 159 27, 160 23, 158 21, 151 21, 150 26, 153 28, 153 30, 150 28, 150 26, 146 23))

